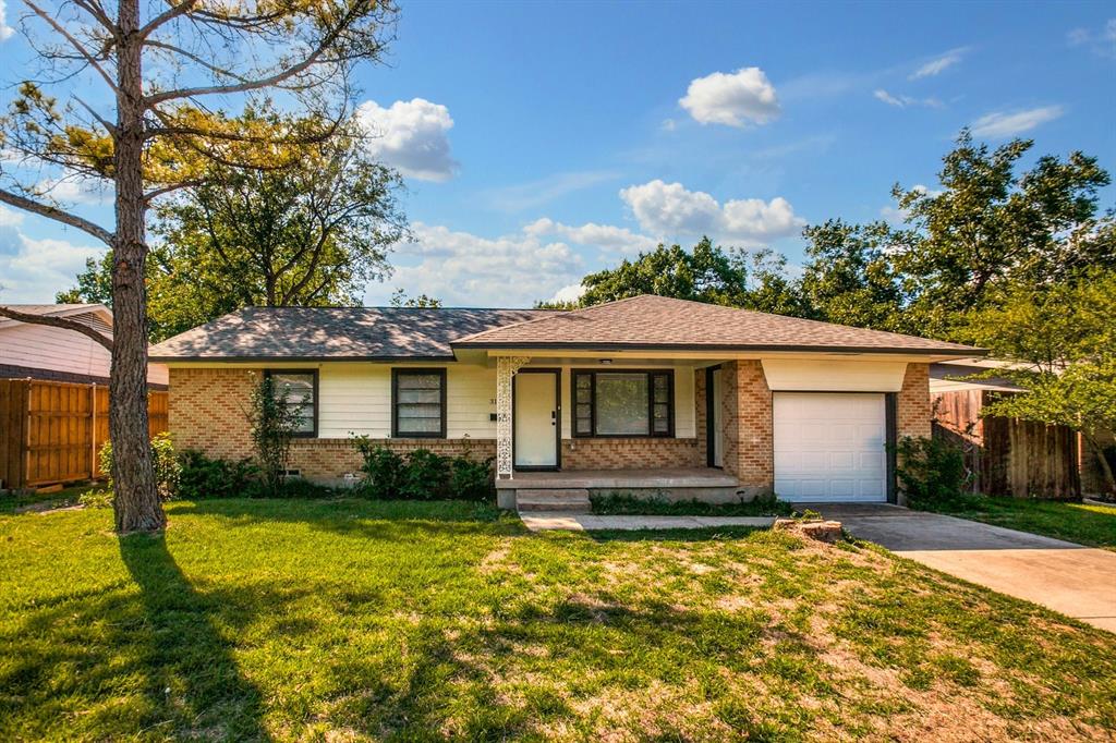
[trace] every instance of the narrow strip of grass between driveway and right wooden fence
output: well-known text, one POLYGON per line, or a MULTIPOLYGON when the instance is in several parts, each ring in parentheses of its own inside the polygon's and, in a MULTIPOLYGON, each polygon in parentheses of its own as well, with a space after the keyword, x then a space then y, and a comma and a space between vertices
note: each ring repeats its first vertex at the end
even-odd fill
POLYGON ((1116 551, 1116 505, 972 496, 933 510, 1116 551))

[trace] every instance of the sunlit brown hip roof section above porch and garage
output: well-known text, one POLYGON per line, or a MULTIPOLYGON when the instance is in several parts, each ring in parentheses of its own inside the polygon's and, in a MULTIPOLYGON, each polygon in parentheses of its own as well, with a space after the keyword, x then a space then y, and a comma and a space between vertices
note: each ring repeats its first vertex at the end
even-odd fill
POLYGON ((454 348, 835 350, 974 356, 970 346, 643 295, 487 330, 454 348))

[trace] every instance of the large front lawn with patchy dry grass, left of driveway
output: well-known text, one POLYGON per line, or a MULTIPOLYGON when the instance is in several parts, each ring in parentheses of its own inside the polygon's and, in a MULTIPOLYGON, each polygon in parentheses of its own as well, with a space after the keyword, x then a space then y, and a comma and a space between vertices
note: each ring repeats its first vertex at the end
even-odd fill
POLYGON ((0 515, 0 740, 1097 740, 1116 641, 874 547, 488 506, 0 515))

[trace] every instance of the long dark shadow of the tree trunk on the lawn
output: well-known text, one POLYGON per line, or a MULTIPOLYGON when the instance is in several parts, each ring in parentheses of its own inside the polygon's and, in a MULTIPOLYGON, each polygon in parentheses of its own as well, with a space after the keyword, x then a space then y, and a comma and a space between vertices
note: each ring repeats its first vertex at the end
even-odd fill
MULTIPOLYGON (((154 725, 171 735, 268 740, 259 689, 244 679, 213 617, 221 599, 198 594, 165 539, 119 540, 143 606, 144 697, 154 725)), ((158 728, 156 727, 156 730, 158 728)))

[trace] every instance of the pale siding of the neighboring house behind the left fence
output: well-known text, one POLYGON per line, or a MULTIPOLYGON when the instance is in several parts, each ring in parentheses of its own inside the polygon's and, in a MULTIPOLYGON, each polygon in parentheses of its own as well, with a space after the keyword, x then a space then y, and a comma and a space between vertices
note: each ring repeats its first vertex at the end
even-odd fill
MULTIPOLYGON (((104 346, 73 330, 29 324, 0 329, 0 364, 107 378, 109 361, 104 346)), ((147 382, 165 385, 166 367, 150 365, 147 382)))

